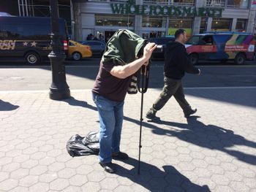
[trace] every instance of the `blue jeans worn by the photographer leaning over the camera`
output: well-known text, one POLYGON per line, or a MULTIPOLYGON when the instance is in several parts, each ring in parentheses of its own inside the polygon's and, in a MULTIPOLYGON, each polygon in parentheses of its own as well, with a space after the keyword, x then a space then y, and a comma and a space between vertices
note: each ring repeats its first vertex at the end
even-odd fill
POLYGON ((112 153, 120 151, 121 128, 124 118, 124 101, 110 101, 92 93, 99 112, 99 161, 112 161, 112 153))

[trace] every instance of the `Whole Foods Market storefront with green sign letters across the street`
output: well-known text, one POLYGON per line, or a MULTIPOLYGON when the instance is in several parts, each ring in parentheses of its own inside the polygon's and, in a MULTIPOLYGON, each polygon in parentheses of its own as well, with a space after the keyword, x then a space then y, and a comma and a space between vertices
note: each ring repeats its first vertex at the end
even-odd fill
POLYGON ((166 37, 177 28, 255 32, 253 0, 88 0, 74 1, 75 39, 105 37, 128 28, 144 38, 166 37))

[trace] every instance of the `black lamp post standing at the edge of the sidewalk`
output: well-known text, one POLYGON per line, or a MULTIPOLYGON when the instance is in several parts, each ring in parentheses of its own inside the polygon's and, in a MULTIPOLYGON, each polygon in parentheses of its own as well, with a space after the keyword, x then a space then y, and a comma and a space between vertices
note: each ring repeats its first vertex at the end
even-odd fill
POLYGON ((63 51, 63 42, 59 35, 59 9, 58 1, 50 0, 50 24, 52 51, 48 55, 52 69, 52 83, 50 85, 50 99, 61 100, 70 97, 69 85, 66 82, 65 66, 66 55, 63 51))

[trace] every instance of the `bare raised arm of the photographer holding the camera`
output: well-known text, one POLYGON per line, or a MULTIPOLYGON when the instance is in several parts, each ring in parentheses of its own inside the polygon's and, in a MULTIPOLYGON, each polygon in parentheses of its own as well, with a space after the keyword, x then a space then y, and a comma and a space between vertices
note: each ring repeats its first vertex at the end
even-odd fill
POLYGON ((135 74, 135 72, 137 72, 141 66, 148 64, 148 59, 151 57, 151 54, 156 47, 157 45, 155 45, 154 43, 148 43, 144 47, 142 58, 138 58, 135 61, 132 61, 131 63, 124 66, 114 66, 111 69, 110 74, 118 77, 119 79, 125 79, 132 74, 135 74))

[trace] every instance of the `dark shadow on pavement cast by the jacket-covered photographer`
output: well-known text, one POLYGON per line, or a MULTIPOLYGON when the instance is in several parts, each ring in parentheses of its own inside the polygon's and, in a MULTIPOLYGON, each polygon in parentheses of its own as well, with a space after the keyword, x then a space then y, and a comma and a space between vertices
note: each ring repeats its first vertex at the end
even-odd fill
POLYGON ((117 172, 121 177, 127 177, 133 183, 146 188, 148 191, 203 191, 209 192, 208 185, 197 185, 192 183, 187 177, 178 172, 173 166, 162 166, 164 171, 140 161, 140 175, 138 174, 138 160, 129 158, 126 164, 133 166, 132 169, 125 169, 116 165, 117 172))

